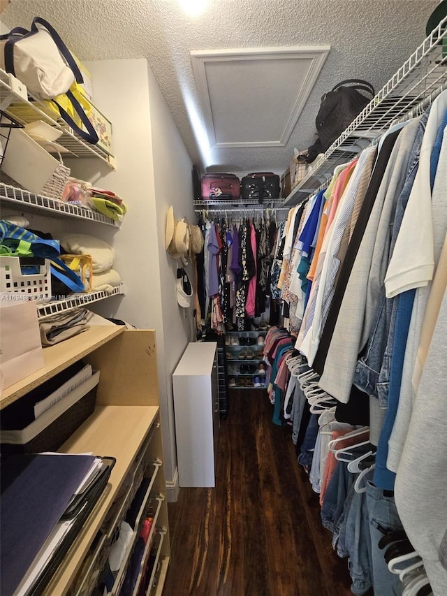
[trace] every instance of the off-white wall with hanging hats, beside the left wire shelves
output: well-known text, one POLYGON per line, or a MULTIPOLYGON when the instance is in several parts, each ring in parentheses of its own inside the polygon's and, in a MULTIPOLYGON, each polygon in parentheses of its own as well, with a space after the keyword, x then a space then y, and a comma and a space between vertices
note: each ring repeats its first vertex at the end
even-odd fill
MULTIPOLYGON (((177 495, 177 455, 172 373, 193 340, 193 307, 177 304, 177 263, 166 253, 168 207, 175 217, 194 220, 192 163, 163 95, 145 59, 86 63, 93 101, 112 122, 117 171, 97 160, 71 160, 72 174, 117 192, 129 211, 119 231, 92 224, 117 252, 115 268, 126 282, 124 298, 99 303, 103 316, 156 330, 164 467, 168 498, 177 495)), ((87 231, 87 230, 86 230, 87 231)), ((186 268, 192 282, 191 266, 186 268)))

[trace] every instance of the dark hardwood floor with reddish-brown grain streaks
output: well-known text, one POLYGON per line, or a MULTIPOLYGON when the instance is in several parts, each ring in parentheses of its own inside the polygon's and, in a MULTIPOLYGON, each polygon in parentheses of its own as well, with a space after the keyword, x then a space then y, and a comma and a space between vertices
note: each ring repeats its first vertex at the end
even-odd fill
POLYGON ((348 596, 318 495, 291 429, 272 424, 265 391, 234 390, 221 421, 216 488, 181 488, 168 504, 164 596, 348 596))

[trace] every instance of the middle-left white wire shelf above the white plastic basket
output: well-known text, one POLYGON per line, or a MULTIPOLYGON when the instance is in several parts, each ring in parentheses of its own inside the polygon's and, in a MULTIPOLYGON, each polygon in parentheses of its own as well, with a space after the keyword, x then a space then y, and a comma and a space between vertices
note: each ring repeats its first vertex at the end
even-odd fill
POLYGON ((3 182, 0 182, 0 205, 20 211, 29 209, 44 210, 46 215, 53 215, 54 217, 65 215, 68 217, 77 217, 115 228, 119 228, 120 224, 120 221, 114 221, 110 217, 105 217, 105 215, 98 211, 78 207, 78 205, 72 205, 71 203, 64 203, 64 201, 58 201, 56 198, 33 194, 25 189, 3 184, 3 182))

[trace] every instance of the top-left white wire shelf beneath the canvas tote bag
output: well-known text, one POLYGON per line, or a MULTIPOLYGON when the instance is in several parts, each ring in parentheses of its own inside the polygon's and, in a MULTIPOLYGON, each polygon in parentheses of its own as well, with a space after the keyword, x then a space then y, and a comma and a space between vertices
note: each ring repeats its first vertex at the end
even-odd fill
POLYGON ((66 157, 96 157, 109 168, 116 170, 115 157, 98 147, 86 143, 80 136, 68 127, 64 120, 54 119, 44 111, 44 104, 27 91, 27 87, 10 73, 0 68, 0 110, 13 117, 20 124, 28 124, 34 120, 43 120, 62 132, 57 143, 62 145, 68 153, 66 157), (29 97, 33 101, 29 101, 29 97))

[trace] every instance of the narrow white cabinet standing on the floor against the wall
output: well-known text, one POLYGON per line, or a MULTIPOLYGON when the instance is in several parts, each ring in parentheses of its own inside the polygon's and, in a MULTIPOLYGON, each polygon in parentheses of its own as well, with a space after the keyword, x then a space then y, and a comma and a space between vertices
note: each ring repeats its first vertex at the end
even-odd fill
POLYGON ((217 343, 188 344, 173 373, 179 486, 215 486, 217 343))

